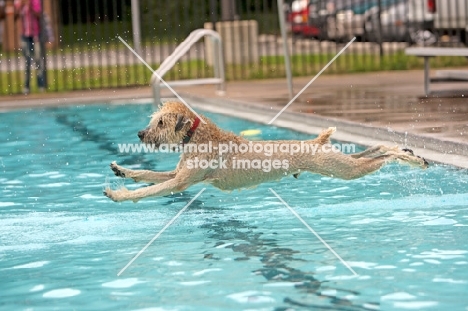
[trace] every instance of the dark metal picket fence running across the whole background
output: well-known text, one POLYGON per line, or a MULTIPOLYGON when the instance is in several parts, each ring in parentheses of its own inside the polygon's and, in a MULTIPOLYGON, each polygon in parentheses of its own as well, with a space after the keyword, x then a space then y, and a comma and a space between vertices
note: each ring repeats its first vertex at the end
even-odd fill
MULTIPOLYGON (((156 69, 203 27, 223 37, 228 80, 284 77, 278 10, 289 28, 294 76, 317 73, 353 37, 327 73, 419 68, 422 60, 406 56, 405 47, 465 46, 468 40, 466 0, 295 0, 281 8, 277 0, 42 0, 42 7, 39 56, 51 92, 147 85, 151 71, 118 37, 156 69)), ((17 94, 25 69, 20 18, 13 0, 0 0, 0 12, 0 95, 17 94)), ((206 44, 200 41, 164 78, 211 77, 206 44)), ((468 64, 462 57, 433 61, 468 64)))

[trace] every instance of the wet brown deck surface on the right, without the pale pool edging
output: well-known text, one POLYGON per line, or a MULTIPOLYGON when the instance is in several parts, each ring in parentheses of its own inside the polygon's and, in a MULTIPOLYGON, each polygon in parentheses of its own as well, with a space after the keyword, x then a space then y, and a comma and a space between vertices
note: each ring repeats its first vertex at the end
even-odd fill
MULTIPOLYGON (((468 83, 433 84, 434 95, 426 97, 422 75, 422 71, 324 75, 287 111, 468 144, 468 83)), ((294 92, 299 92, 309 80, 294 79, 294 92)), ((182 93, 214 97, 213 89, 187 88, 182 93)), ((225 98, 274 110, 289 102, 284 80, 232 82, 225 98)))

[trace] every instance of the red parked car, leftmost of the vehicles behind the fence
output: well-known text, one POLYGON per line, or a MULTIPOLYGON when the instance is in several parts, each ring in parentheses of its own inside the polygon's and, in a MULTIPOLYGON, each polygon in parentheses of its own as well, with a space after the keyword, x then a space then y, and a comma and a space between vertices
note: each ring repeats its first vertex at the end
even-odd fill
POLYGON ((309 0, 294 0, 288 13, 287 21, 293 35, 318 37, 319 29, 308 23, 309 0))

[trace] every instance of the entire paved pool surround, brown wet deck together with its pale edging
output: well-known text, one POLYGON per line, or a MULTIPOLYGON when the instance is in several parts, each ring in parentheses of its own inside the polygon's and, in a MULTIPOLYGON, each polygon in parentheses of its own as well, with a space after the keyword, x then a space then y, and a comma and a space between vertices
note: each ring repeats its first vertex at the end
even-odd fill
MULTIPOLYGON (((313 77, 294 78, 294 95, 313 77)), ((423 71, 322 75, 272 124, 317 134, 336 126, 336 139, 363 145, 398 144, 429 160, 468 168, 468 83, 433 84, 426 97, 423 71)), ((285 79, 177 88, 189 104, 269 123, 290 101, 285 79)), ((174 97, 167 89, 162 97, 174 97)), ((0 98, 0 112, 76 103, 142 103, 150 87, 30 94, 0 98)))

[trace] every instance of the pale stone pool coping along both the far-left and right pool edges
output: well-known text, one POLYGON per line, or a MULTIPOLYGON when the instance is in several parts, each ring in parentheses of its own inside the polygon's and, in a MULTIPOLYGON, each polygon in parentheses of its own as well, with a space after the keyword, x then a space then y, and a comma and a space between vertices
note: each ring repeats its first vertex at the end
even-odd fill
MULTIPOLYGON (((67 98, 36 98, 23 99, 0 105, 0 112, 28 108, 46 108, 57 106, 69 106, 76 104, 148 104, 153 102, 148 97, 150 92, 145 89, 135 89, 135 92, 126 92, 119 99, 115 94, 103 92, 97 96, 70 96, 67 98), (136 96, 136 95, 139 96, 136 96)), ((183 98, 187 98, 193 107, 209 112, 220 113, 241 119, 268 124, 278 113, 278 109, 255 102, 245 102, 229 99, 227 97, 202 97, 193 93, 180 92, 183 98), (269 109, 270 108, 270 109, 269 109)), ((343 142, 355 143, 363 146, 378 144, 406 146, 416 154, 429 161, 449 164, 458 168, 468 169, 468 144, 428 137, 413 133, 395 131, 391 128, 369 126, 343 119, 324 117, 310 113, 284 111, 275 120, 273 126, 289 128, 298 132, 317 135, 324 128, 334 126, 337 132, 333 138, 343 142), (448 151, 447 151, 448 150, 448 151)))

